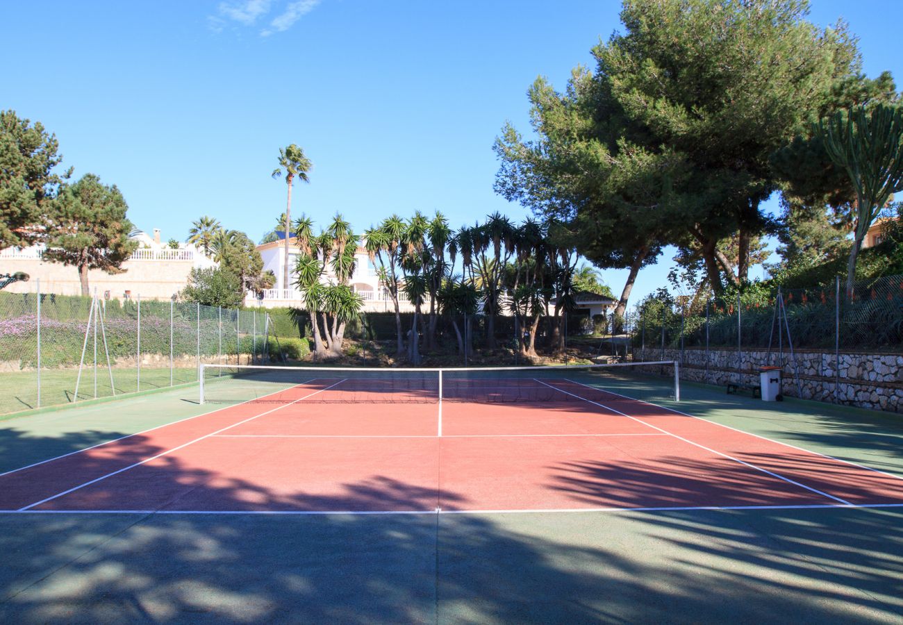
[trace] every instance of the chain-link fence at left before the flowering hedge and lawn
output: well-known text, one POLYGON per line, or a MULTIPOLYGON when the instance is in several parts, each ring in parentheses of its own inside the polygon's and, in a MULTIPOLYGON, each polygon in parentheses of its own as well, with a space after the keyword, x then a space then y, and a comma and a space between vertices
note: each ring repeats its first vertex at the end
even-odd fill
POLYGON ((201 362, 266 362, 268 333, 265 311, 0 292, 0 415, 193 383, 201 362))

